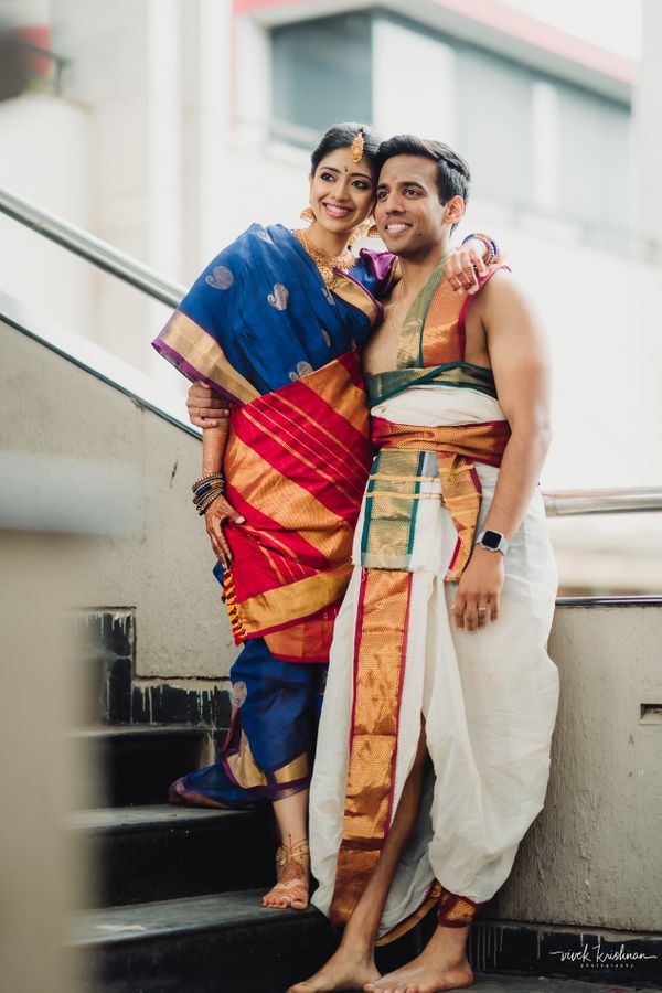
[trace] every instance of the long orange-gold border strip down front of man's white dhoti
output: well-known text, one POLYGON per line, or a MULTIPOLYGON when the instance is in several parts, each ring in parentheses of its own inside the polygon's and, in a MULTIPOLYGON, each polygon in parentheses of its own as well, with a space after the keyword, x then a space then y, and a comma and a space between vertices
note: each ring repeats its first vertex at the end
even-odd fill
POLYGON ((412 574, 364 569, 356 615, 354 698, 343 833, 331 903, 348 922, 391 826, 412 574))

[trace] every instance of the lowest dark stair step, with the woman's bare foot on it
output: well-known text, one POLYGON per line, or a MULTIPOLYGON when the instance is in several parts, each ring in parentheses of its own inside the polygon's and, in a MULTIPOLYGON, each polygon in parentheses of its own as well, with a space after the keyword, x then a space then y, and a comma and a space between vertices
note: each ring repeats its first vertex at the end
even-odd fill
POLYGON ((90 952, 103 993, 277 993, 334 948, 316 910, 267 910, 263 890, 189 897, 81 915, 74 940, 90 952))

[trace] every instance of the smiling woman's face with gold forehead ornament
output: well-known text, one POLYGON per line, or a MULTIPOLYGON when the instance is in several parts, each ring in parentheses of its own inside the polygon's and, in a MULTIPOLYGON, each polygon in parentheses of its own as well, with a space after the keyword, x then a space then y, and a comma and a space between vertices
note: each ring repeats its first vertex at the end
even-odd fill
POLYGON ((353 231, 370 214, 374 186, 365 159, 354 162, 349 148, 329 152, 310 177, 310 206, 317 223, 333 234, 353 231))

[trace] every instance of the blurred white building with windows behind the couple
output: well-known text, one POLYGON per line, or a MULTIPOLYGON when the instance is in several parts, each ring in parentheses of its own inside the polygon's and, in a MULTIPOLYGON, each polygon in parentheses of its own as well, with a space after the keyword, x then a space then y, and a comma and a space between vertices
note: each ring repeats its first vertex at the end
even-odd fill
MULTIPOLYGON (((0 184, 188 284, 254 220, 297 226, 333 121, 447 141, 473 173, 460 235, 498 238, 552 338, 543 484, 660 484, 660 71, 592 43, 590 19, 587 39, 531 15, 557 6, 40 0, 68 65, 58 92, 0 105, 0 184)), ((180 388, 149 349, 163 308, 3 217, 0 252, 4 291, 180 388)), ((555 527, 566 587, 659 591, 653 520, 555 527)))

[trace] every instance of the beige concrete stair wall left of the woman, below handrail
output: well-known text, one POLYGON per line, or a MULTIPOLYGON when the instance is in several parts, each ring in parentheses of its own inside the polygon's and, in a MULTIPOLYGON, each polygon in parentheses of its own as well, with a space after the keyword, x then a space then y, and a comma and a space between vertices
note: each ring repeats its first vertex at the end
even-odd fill
POLYGON ((129 533, 88 543, 73 606, 136 609, 140 677, 225 677, 234 648, 190 499, 200 441, 0 323, 0 448, 107 467, 129 533))

